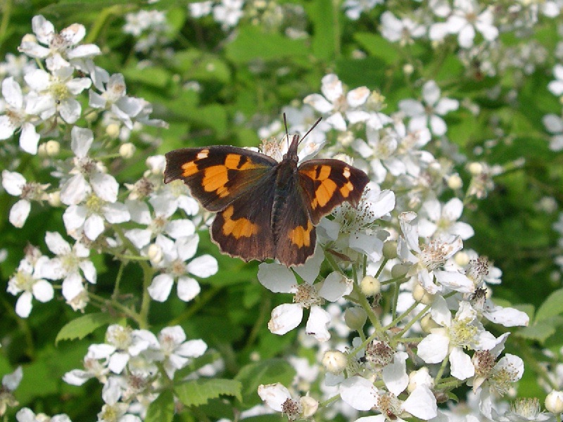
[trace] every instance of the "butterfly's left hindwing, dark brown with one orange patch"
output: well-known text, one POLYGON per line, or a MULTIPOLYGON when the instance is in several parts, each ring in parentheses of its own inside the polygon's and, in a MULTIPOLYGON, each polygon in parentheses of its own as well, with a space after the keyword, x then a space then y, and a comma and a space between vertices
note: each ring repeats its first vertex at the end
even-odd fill
POLYGON ((272 205, 275 172, 264 177, 244 196, 218 212, 211 225, 211 237, 222 252, 245 261, 275 256, 272 234, 272 205))

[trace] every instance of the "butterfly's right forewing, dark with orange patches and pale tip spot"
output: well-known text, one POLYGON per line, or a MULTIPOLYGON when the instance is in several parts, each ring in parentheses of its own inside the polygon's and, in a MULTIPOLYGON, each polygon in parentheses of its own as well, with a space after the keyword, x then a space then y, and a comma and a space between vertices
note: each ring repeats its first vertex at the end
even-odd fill
POLYGON ((369 181, 367 174, 341 160, 309 160, 298 168, 301 192, 305 196, 312 224, 348 201, 358 205, 369 181))

